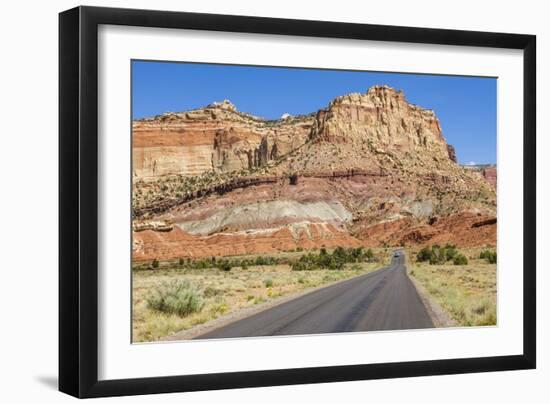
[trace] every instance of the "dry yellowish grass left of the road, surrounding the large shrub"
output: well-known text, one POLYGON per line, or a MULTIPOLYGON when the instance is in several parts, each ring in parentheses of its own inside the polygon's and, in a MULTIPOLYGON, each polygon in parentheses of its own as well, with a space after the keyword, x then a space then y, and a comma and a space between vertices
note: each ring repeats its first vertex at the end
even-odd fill
POLYGON ((246 270, 183 270, 163 263, 154 271, 133 273, 133 341, 155 341, 236 310, 297 294, 306 289, 358 276, 381 263, 348 264, 343 270, 291 271, 288 265, 251 266, 246 270), (154 310, 147 299, 168 282, 186 281, 199 290, 204 306, 187 316, 154 310))

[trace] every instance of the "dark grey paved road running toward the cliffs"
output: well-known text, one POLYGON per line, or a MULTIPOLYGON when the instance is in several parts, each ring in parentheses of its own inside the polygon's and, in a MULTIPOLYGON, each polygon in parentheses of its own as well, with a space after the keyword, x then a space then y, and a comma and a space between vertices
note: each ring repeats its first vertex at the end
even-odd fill
POLYGON ((405 257, 198 338, 321 334, 434 327, 405 269, 405 257))

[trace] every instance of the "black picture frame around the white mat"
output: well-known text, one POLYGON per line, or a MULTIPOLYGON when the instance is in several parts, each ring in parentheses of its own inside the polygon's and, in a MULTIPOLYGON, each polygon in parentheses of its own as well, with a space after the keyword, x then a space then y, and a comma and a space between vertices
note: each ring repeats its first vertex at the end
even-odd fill
POLYGON ((84 398, 535 368, 535 104, 534 35, 96 7, 77 7, 60 13, 59 390, 84 398), (100 24, 523 50, 523 354, 99 381, 100 24))

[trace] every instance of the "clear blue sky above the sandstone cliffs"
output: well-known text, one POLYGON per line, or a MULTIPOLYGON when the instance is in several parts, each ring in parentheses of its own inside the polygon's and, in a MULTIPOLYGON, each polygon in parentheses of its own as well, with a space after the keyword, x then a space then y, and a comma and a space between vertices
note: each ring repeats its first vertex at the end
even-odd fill
POLYGON ((149 61, 133 61, 132 67, 134 119, 224 99, 239 111, 276 119, 387 84, 403 90, 409 102, 435 110, 460 163, 496 162, 495 78, 149 61))

